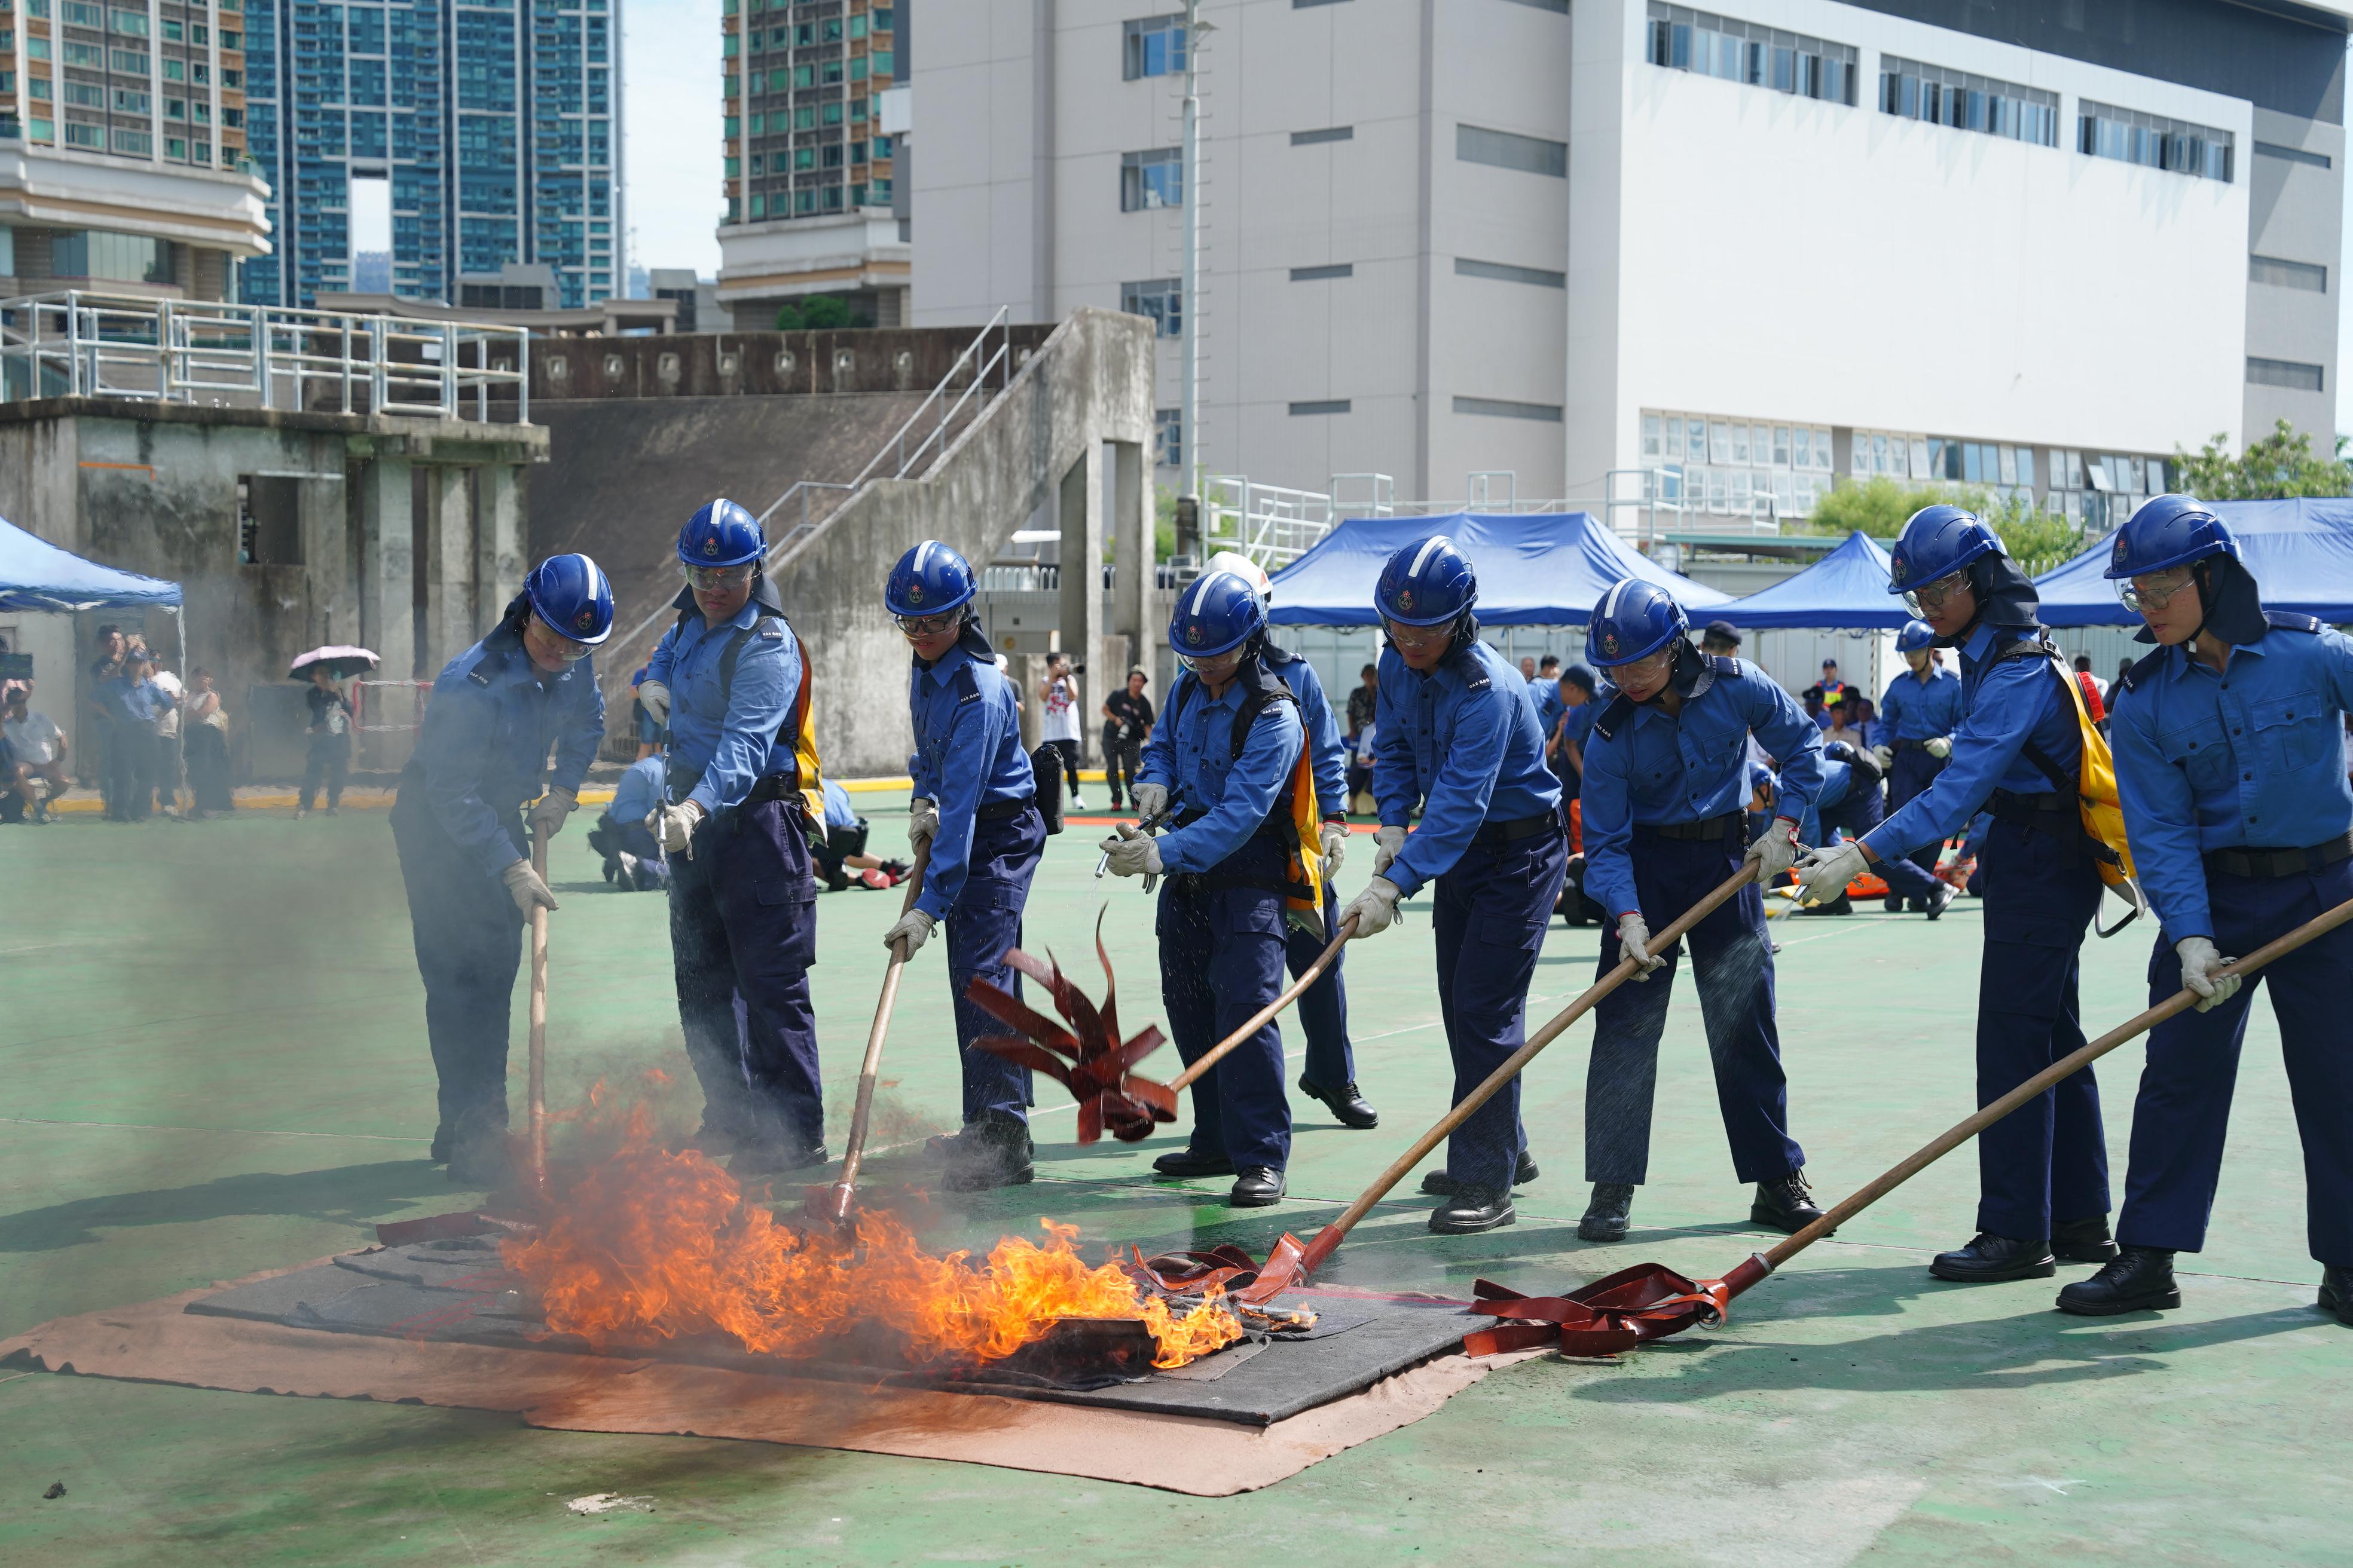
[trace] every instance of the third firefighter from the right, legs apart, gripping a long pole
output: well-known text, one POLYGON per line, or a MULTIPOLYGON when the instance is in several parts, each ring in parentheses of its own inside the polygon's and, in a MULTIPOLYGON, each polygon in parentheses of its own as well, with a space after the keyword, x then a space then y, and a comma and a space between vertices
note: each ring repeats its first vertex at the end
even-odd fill
MULTIPOLYGON (((1821 731, 1760 670, 1692 646, 1689 618, 1657 583, 1624 578, 1593 607, 1586 656, 1614 693, 1586 743, 1586 896, 1617 922, 1600 973, 1652 943, 1652 929, 1706 898, 1741 860, 1758 879, 1685 938, 1715 1063, 1715 1107, 1737 1180, 1753 1182, 1748 1218, 1798 1232, 1821 1215, 1805 1182, 1805 1150, 1788 1135, 1788 1079, 1774 1025, 1765 886, 1798 858, 1798 823, 1821 795, 1821 731), (1774 818, 1748 842, 1748 736, 1777 757, 1774 818)), ((1633 1190, 1649 1175, 1649 1112, 1659 1034, 1678 947, 1652 957, 1593 1009, 1586 1070, 1586 1180, 1593 1199, 1577 1234, 1621 1241, 1633 1190)))

